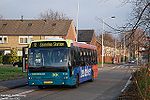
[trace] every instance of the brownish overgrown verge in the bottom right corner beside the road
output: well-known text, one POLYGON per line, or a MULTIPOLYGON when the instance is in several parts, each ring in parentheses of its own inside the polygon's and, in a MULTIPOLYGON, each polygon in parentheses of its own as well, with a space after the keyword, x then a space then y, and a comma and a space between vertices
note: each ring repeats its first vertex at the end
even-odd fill
POLYGON ((150 66, 143 66, 132 74, 131 84, 118 100, 150 100, 150 66))

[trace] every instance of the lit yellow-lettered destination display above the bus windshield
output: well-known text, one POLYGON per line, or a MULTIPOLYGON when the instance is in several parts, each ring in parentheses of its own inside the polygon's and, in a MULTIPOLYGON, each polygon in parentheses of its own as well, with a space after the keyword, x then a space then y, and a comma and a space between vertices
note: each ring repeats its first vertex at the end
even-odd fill
POLYGON ((45 48, 45 47, 67 47, 65 41, 42 41, 42 42, 32 42, 31 48, 45 48))

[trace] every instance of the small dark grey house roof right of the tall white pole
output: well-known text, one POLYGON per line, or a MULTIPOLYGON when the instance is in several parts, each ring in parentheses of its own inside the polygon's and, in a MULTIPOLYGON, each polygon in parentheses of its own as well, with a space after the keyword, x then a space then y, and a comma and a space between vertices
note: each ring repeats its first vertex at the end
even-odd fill
POLYGON ((91 42, 94 30, 78 30, 78 42, 91 42))

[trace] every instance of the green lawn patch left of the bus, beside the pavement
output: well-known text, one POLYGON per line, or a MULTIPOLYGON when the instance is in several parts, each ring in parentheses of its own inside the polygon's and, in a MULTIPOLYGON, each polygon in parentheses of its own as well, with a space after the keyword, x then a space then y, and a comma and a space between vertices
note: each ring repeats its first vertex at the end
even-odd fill
POLYGON ((12 80, 26 77, 26 73, 21 68, 16 67, 0 67, 0 81, 12 80))

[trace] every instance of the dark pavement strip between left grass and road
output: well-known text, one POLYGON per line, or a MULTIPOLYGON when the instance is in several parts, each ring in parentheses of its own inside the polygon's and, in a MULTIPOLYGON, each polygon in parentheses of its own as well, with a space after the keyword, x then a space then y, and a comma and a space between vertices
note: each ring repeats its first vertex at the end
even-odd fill
POLYGON ((26 86, 27 85, 27 79, 21 78, 16 80, 8 80, 8 81, 0 81, 0 92, 6 91, 9 89, 26 86))

